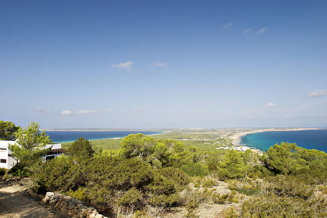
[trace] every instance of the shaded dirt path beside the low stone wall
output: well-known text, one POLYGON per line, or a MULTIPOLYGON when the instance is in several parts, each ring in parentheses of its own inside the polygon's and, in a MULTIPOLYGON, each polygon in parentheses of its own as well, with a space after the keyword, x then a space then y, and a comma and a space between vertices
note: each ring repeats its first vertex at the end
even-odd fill
POLYGON ((57 208, 50 208, 29 196, 17 182, 0 181, 1 218, 68 218, 57 208))

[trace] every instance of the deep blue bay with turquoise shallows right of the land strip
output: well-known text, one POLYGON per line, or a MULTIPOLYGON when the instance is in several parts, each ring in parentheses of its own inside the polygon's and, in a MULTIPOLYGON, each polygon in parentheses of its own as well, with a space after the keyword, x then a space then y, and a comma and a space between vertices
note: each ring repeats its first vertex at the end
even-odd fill
POLYGON ((240 138, 240 143, 267 151, 270 146, 281 142, 296 143, 306 149, 316 149, 327 153, 327 130, 272 131, 251 133, 240 138))

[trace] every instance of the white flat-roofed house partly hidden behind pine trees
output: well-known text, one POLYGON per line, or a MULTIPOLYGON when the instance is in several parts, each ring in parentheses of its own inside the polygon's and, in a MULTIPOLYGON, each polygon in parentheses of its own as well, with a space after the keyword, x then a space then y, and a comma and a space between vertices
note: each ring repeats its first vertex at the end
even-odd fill
MULTIPOLYGON (((8 144, 13 145, 16 141, 3 141, 0 140, 0 168, 10 169, 14 164, 17 163, 17 158, 11 154, 11 151, 8 149, 8 144)), ((45 145, 45 148, 51 148, 48 154, 43 155, 41 158, 43 161, 53 159, 57 156, 60 156, 66 152, 65 149, 61 148, 61 144, 49 144, 45 145), (51 148, 52 146, 52 148, 51 148)))

